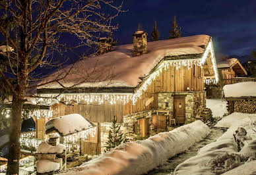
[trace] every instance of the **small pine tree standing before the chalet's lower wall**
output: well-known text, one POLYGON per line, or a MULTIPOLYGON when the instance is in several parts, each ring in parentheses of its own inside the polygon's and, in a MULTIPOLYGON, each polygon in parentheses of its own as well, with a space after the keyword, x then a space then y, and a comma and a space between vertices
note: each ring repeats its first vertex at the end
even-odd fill
POLYGON ((112 126, 110 126, 110 131, 108 132, 108 141, 105 151, 110 151, 110 149, 117 147, 125 140, 122 134, 119 134, 121 125, 117 124, 117 119, 113 116, 112 126))

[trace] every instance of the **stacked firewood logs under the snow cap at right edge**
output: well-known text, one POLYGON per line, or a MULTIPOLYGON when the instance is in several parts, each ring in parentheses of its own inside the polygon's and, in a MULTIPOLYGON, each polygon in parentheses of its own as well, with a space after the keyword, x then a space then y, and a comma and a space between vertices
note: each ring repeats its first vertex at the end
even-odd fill
POLYGON ((234 112, 256 113, 256 100, 234 101, 234 112))

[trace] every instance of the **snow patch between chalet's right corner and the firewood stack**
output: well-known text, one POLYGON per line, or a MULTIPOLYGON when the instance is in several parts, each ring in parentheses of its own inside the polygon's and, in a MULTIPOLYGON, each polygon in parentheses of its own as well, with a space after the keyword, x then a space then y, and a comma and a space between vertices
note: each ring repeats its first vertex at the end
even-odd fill
POLYGON ((212 111, 212 117, 222 117, 228 113, 227 101, 224 99, 207 99, 207 108, 212 111))

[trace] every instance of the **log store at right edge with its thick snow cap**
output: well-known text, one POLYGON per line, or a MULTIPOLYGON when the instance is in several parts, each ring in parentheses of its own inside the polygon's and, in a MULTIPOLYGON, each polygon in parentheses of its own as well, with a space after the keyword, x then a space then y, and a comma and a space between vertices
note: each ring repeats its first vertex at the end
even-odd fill
POLYGON ((256 82, 240 82, 223 87, 228 112, 256 113, 256 82))

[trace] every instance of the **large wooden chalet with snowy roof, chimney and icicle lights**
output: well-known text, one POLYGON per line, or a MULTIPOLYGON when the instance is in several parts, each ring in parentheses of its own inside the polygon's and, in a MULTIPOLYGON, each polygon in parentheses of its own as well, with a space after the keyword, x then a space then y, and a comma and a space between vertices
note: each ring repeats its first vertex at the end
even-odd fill
POLYGON ((99 122, 102 150, 113 116, 125 134, 135 132, 139 124, 145 137, 158 126, 166 127, 169 117, 185 124, 204 116, 205 82, 218 82, 211 37, 147 42, 146 35, 135 32, 133 44, 118 45, 50 74, 38 84, 38 95, 61 95, 40 101, 51 104, 53 117, 78 113, 99 122), (58 81, 51 82, 55 78, 58 81), (168 111, 167 118, 157 110, 168 111))

